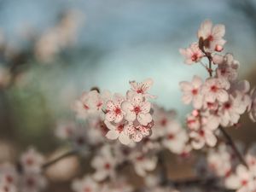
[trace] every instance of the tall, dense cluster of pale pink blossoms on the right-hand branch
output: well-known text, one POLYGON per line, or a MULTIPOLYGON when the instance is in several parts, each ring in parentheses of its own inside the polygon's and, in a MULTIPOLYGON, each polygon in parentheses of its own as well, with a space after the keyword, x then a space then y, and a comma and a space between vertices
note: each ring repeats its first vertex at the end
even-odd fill
POLYGON ((195 75, 191 82, 180 82, 183 102, 192 103, 194 108, 187 117, 187 125, 191 144, 196 149, 205 144, 215 146, 218 127, 238 125, 241 114, 248 111, 253 119, 254 93, 250 94, 247 80, 237 79, 239 62, 230 53, 218 53, 224 49, 224 33, 223 25, 212 26, 212 22, 206 20, 197 32, 199 42, 180 50, 187 64, 201 62, 209 73, 205 80, 195 75))

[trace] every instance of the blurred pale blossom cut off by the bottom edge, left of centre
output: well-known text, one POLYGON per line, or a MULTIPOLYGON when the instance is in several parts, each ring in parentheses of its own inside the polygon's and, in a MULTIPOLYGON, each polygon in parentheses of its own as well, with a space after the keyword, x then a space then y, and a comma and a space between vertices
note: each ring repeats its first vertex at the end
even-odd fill
POLYGON ((72 183, 72 189, 75 192, 98 192, 99 184, 90 176, 84 176, 82 179, 76 179, 72 183))

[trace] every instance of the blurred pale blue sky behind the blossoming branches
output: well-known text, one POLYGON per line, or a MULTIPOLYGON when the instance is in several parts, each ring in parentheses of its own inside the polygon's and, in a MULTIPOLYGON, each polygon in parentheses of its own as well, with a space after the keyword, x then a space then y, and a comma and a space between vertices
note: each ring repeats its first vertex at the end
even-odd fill
MULTIPOLYGON (((129 87, 124 86, 128 80, 151 77, 155 81, 152 92, 159 96, 157 102, 182 112, 185 107, 180 101, 178 82, 190 80, 195 73, 206 77, 206 73, 200 66, 183 65, 178 49, 196 40, 201 21, 211 19, 226 25, 226 50, 241 61, 241 75, 253 67, 255 32, 229 2, 232 1, 2 0, 0 26, 13 44, 19 44, 19 33, 25 26, 40 32, 53 26, 63 10, 78 9, 84 15, 84 23, 77 47, 96 49, 102 54, 93 62, 83 55, 78 57, 67 76, 58 77, 63 84, 82 82, 77 89, 98 85, 124 92, 129 87)), ((63 84, 51 84, 46 96, 64 89, 63 84)))

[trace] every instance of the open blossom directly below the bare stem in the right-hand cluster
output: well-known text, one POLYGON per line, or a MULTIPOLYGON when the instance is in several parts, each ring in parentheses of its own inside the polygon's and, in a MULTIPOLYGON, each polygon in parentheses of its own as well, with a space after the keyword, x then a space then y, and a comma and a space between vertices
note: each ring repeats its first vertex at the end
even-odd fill
POLYGON ((206 102, 227 102, 229 94, 227 90, 230 88, 230 83, 226 79, 207 79, 202 87, 202 94, 205 96, 206 102))

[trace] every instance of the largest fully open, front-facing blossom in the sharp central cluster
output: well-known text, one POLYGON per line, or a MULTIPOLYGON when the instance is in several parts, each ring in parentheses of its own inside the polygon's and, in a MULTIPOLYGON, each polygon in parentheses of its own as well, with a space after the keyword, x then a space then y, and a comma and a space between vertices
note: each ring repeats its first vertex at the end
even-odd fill
POLYGON ((152 116, 149 113, 151 103, 145 101, 141 94, 133 94, 131 100, 122 103, 121 108, 128 121, 132 122, 137 119, 141 125, 148 125, 152 121, 152 116))

